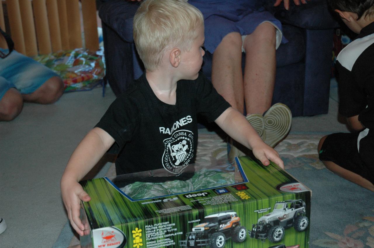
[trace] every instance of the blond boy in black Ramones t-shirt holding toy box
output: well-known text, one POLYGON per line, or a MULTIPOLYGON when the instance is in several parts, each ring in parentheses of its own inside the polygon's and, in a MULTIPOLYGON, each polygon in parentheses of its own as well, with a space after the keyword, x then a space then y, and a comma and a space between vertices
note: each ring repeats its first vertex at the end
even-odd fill
POLYGON ((119 153, 117 174, 164 168, 178 175, 196 156, 197 114, 252 149, 265 166, 270 159, 284 167, 279 154, 199 73, 203 22, 185 0, 145 0, 137 10, 134 40, 145 73, 83 138, 62 175, 62 199, 79 235, 80 201, 90 197, 78 182, 104 153, 119 153))

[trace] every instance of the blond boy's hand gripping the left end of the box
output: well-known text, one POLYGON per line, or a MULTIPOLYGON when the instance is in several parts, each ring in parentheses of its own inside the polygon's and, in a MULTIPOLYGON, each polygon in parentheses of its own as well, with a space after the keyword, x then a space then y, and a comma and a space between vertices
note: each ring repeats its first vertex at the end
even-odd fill
POLYGON ((82 185, 75 181, 61 180, 61 194, 71 226, 83 236, 85 227, 79 218, 80 201, 89 201, 91 197, 83 190, 82 185))

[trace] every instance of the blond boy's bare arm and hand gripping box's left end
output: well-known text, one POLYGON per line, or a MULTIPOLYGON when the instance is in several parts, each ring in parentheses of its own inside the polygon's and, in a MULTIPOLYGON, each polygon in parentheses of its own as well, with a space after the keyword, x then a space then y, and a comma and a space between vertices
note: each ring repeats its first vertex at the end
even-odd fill
POLYGON ((114 139, 101 128, 93 128, 79 143, 71 155, 61 178, 61 195, 71 226, 83 235, 84 226, 79 219, 80 201, 91 198, 79 181, 95 166, 113 145, 114 139))

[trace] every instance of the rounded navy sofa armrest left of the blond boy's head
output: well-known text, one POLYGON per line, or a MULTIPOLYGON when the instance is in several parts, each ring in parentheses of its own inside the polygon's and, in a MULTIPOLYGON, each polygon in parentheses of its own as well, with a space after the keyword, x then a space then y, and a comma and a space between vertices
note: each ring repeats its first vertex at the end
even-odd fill
POLYGON ((123 41, 134 43, 132 22, 139 5, 138 1, 105 1, 99 8, 99 17, 109 28, 116 31, 123 41))

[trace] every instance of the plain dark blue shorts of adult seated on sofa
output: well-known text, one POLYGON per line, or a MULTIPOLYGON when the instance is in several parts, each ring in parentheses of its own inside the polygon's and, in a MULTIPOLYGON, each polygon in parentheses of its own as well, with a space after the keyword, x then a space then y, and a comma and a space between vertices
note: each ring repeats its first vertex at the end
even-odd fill
POLYGON ((204 16, 204 47, 213 54, 222 39, 231 32, 242 35, 252 34, 258 25, 270 22, 276 28, 276 48, 286 43, 282 35, 282 24, 270 12, 264 10, 261 1, 249 0, 189 0, 204 16))

